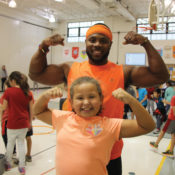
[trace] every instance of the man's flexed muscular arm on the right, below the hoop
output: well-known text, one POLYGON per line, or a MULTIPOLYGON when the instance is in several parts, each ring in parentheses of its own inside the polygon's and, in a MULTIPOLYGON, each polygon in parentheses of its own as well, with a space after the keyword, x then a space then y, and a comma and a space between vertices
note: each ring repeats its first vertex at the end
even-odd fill
POLYGON ((167 67, 160 54, 146 37, 135 32, 128 32, 124 44, 140 44, 144 47, 148 57, 148 66, 124 66, 125 85, 151 87, 168 81, 167 67))

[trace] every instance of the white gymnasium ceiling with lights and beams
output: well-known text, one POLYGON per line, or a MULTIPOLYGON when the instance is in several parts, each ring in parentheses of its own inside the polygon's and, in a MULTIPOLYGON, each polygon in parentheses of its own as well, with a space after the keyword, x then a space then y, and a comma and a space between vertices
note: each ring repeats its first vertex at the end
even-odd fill
POLYGON ((147 17, 150 3, 150 0, 15 0, 17 7, 10 8, 9 1, 0 0, 0 14, 2 9, 6 9, 44 20, 48 20, 53 14, 57 22, 89 18, 98 20, 116 15, 132 21, 139 17, 147 17))

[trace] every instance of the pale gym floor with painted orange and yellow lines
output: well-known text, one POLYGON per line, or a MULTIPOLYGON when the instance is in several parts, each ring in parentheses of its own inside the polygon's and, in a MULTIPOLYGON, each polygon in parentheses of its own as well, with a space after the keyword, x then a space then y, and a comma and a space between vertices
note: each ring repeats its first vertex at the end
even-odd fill
MULTIPOLYGON (((34 92, 35 99, 43 90, 34 92)), ((1 95, 2 93, 0 93, 1 95)), ((49 103, 51 108, 58 108, 59 100, 49 103)), ((55 174, 55 149, 56 133, 49 125, 33 121, 34 135, 32 136, 32 162, 26 165, 26 175, 54 175, 55 174)), ((1 134, 1 132, 0 132, 1 134)), ((163 138, 158 150, 149 146, 150 141, 157 137, 144 135, 124 140, 122 151, 123 175, 174 175, 175 159, 163 157, 170 145, 170 137, 163 138)), ((5 153, 2 137, 0 137, 0 153, 5 153)), ((66 155, 65 155, 66 156, 66 155)), ((5 172, 4 175, 18 175, 17 167, 5 172)))

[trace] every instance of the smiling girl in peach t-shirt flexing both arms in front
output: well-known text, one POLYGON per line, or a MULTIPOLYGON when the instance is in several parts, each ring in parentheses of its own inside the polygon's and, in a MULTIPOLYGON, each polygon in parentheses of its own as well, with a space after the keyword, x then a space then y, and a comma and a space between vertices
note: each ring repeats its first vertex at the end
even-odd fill
POLYGON ((57 87, 50 89, 36 100, 33 108, 38 119, 56 129, 57 175, 106 175, 106 165, 117 140, 146 134, 155 127, 144 107, 121 88, 113 91, 113 96, 128 103, 137 120, 101 117, 102 90, 91 77, 81 77, 72 83, 73 111, 48 109, 49 100, 61 96, 57 87))

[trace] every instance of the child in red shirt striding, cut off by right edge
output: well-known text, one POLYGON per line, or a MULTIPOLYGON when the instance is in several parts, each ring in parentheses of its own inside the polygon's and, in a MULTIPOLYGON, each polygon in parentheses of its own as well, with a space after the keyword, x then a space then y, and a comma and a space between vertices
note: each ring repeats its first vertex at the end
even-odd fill
POLYGON ((168 114, 168 120, 165 123, 164 128, 160 132, 156 142, 150 142, 150 145, 154 148, 158 148, 160 141, 162 140, 165 132, 171 134, 171 147, 169 150, 162 152, 163 155, 173 157, 173 149, 175 146, 175 96, 171 99, 170 112, 168 114))

